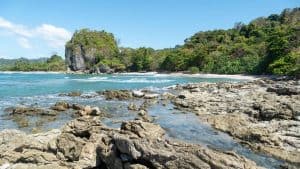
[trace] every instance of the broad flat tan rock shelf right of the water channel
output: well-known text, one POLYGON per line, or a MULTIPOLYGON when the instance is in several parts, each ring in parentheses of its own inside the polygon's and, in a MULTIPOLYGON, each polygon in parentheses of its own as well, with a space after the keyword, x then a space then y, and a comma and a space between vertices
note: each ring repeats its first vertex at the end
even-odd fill
POLYGON ((241 143, 300 166, 299 81, 178 86, 173 103, 241 143))

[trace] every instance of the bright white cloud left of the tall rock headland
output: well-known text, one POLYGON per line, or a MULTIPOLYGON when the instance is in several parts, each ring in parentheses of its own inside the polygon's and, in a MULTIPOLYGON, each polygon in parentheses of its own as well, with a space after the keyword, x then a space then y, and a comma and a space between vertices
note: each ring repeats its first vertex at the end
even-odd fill
POLYGON ((44 42, 50 48, 62 49, 72 34, 64 28, 50 24, 42 24, 36 28, 28 28, 25 25, 12 23, 0 17, 0 30, 13 33, 19 45, 25 49, 33 48, 32 40, 44 42))

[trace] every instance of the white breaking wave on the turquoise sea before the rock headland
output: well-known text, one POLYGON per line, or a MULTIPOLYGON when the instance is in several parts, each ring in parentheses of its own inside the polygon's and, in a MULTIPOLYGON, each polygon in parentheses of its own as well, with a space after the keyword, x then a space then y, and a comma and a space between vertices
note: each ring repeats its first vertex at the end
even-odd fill
POLYGON ((170 79, 146 79, 146 78, 130 78, 130 79, 109 79, 108 77, 91 77, 87 79, 71 79, 79 82, 113 82, 113 83, 169 83, 175 80, 170 79))

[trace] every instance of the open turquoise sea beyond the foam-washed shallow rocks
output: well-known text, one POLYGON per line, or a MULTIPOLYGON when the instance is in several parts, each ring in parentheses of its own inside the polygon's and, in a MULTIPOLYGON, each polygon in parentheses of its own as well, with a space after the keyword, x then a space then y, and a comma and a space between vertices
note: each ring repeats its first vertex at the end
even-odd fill
POLYGON ((49 73, 0 73, 0 97, 35 96, 68 91, 162 88, 188 82, 237 81, 163 74, 70 75, 49 73))

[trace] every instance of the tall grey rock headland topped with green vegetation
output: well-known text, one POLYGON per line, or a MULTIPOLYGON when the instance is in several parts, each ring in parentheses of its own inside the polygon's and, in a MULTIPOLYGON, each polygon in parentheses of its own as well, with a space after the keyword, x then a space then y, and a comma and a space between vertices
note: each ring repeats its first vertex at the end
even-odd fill
POLYGON ((82 29, 67 42, 65 59, 72 71, 99 72, 109 68, 101 61, 116 56, 117 42, 111 33, 82 29), (106 69, 105 69, 106 68, 106 69))

